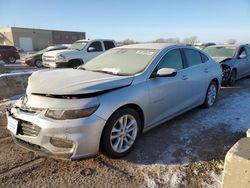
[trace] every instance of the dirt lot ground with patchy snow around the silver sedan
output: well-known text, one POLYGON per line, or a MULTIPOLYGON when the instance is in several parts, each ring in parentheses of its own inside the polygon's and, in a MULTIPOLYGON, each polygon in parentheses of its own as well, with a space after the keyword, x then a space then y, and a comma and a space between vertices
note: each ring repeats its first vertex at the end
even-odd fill
POLYGON ((143 134, 119 160, 39 157, 15 145, 2 123, 0 187, 220 187, 226 152, 250 127, 249 104, 248 78, 223 88, 214 107, 196 108, 143 134))

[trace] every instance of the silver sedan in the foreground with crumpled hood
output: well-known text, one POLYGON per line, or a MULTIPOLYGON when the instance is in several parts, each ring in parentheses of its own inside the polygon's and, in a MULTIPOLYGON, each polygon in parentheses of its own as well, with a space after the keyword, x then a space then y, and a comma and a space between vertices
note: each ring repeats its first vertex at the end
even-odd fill
POLYGON ((221 68, 185 45, 117 47, 79 66, 34 72, 26 96, 9 111, 14 141, 30 150, 78 159, 119 158, 139 134, 194 107, 214 105, 221 68))

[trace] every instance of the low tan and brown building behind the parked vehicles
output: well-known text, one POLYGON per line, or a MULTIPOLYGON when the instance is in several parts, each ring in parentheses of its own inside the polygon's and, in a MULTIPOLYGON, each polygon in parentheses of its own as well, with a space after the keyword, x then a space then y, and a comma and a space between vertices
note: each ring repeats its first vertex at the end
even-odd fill
POLYGON ((0 28, 0 44, 13 45, 24 51, 40 50, 56 44, 71 44, 85 37, 85 32, 20 27, 0 28))

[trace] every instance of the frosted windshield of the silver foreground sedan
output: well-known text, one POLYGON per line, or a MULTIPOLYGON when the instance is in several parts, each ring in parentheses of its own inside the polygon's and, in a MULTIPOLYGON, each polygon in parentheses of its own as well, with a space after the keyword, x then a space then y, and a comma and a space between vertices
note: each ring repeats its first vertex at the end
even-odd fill
POLYGON ((147 67, 157 52, 154 49, 111 49, 79 68, 121 76, 135 75, 147 67))

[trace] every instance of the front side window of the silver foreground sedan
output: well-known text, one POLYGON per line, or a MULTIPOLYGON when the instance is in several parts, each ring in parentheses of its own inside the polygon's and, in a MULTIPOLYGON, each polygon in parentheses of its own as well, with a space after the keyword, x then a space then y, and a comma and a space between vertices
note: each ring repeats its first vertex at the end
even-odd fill
POLYGON ((176 70, 183 69, 181 52, 179 49, 172 50, 165 54, 159 64, 157 70, 161 68, 173 68, 176 70))

